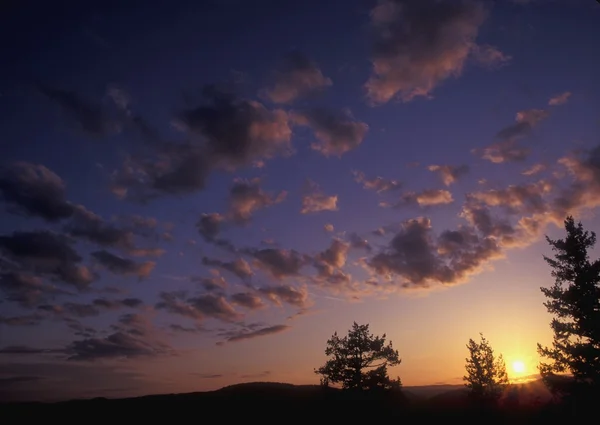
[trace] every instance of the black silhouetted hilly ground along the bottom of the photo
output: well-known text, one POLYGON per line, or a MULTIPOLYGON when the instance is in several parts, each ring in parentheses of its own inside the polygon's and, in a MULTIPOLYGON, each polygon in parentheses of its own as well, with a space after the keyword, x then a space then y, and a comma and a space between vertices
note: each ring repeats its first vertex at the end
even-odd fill
POLYGON ((0 417, 5 424, 40 419, 58 420, 63 424, 90 421, 139 423, 148 419, 169 423, 371 424, 393 420, 410 424, 443 420, 462 424, 570 424, 577 421, 574 414, 573 408, 552 403, 504 403, 500 407, 484 409, 461 400, 450 404, 435 399, 411 400, 402 392, 351 394, 318 386, 288 384, 246 384, 204 393, 127 399, 0 404, 0 417))

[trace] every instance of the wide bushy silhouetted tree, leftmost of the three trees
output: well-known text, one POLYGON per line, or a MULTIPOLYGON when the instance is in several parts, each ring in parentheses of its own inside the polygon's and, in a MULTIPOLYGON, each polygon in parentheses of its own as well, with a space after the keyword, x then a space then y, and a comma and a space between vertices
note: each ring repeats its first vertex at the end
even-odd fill
POLYGON ((321 384, 341 384, 343 389, 353 390, 400 388, 400 378, 390 380, 387 367, 396 366, 401 360, 392 342, 385 344, 385 337, 374 336, 368 324, 356 322, 347 336, 340 338, 334 333, 325 349, 330 359, 315 369, 321 375, 321 384))

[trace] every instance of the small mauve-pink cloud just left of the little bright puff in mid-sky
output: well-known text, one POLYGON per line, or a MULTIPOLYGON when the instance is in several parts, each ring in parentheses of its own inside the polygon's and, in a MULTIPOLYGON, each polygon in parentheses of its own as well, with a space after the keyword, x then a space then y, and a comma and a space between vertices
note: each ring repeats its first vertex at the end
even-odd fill
POLYGON ((263 191, 260 179, 236 180, 229 190, 229 216, 236 223, 247 223, 252 215, 263 208, 282 202, 287 192, 272 195, 263 191))

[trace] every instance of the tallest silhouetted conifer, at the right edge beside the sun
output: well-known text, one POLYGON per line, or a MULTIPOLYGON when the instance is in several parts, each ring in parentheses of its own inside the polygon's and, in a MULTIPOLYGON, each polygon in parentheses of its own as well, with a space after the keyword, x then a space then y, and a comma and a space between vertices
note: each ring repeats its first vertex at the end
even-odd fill
POLYGON ((541 290, 548 298, 544 305, 555 316, 550 323, 554 339, 552 347, 538 344, 538 353, 550 360, 540 362, 539 370, 555 394, 589 394, 600 388, 600 260, 590 262, 588 255, 596 234, 571 216, 564 224, 565 239, 546 236, 556 252, 554 258, 544 256, 555 282, 541 290))

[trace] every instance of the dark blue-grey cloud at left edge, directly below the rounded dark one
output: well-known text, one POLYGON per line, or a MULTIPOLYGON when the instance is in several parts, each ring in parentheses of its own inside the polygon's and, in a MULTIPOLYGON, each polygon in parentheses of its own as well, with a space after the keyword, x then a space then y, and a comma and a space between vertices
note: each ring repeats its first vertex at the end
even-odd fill
POLYGON ((86 266, 78 264, 82 258, 71 242, 57 233, 32 231, 0 236, 0 252, 22 270, 41 273, 80 289, 94 279, 86 266))

